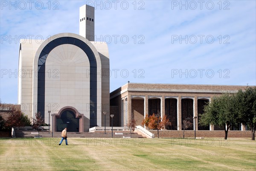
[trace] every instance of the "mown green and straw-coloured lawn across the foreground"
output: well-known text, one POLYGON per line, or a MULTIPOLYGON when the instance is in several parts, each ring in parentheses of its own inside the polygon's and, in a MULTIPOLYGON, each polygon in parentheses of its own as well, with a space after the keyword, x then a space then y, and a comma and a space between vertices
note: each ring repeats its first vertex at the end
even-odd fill
POLYGON ((0 139, 0 171, 255 171, 250 138, 0 139))

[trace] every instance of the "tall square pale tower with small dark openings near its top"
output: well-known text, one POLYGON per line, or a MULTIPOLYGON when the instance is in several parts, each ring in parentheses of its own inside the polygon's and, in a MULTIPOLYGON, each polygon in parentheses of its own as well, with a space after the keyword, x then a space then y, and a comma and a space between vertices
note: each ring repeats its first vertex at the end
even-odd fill
POLYGON ((94 41, 94 7, 84 5, 79 8, 79 35, 94 41))

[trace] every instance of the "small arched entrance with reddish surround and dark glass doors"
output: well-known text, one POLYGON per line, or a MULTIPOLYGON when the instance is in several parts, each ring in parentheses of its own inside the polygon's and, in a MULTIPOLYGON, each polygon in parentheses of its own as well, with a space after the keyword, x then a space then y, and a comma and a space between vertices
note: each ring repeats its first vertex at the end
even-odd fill
POLYGON ((54 114, 54 131, 61 132, 67 128, 69 132, 84 132, 83 116, 74 107, 63 107, 58 114, 54 114))

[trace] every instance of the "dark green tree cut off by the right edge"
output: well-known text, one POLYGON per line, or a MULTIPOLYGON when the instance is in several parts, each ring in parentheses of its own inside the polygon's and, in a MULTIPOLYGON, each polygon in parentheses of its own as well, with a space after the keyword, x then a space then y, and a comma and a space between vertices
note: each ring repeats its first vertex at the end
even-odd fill
POLYGON ((249 126, 252 134, 252 140, 255 140, 256 130, 256 87, 247 87, 239 90, 236 94, 238 104, 239 121, 243 125, 249 126))

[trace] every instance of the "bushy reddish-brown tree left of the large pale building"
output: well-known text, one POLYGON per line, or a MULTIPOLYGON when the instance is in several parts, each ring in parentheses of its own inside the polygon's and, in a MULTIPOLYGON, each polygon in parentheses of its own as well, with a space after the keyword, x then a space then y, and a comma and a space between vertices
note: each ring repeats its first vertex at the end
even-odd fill
POLYGON ((19 109, 12 107, 12 110, 9 113, 9 116, 6 120, 6 127, 24 127, 31 125, 30 119, 19 109))

